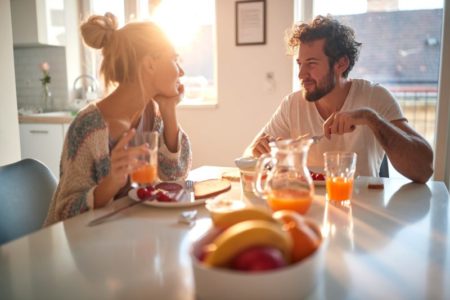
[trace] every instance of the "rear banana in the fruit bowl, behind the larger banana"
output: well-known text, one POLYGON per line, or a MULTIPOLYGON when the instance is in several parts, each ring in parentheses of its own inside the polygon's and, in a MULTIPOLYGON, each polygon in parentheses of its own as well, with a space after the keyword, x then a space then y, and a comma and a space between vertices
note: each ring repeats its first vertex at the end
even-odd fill
POLYGON ((236 223, 248 220, 263 220, 268 222, 276 222, 272 218, 271 212, 266 209, 248 206, 242 209, 233 210, 226 213, 213 214, 212 220, 214 226, 219 228, 228 228, 236 223))

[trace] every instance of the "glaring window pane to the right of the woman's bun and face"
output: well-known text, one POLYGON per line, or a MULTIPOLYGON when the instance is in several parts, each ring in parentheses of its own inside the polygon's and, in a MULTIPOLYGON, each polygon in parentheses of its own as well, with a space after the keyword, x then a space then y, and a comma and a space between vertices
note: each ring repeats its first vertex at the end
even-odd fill
POLYGON ((185 85, 183 103, 215 103, 215 1, 143 2, 145 3, 141 6, 139 15, 158 23, 181 57, 181 65, 185 71, 181 78, 185 85))

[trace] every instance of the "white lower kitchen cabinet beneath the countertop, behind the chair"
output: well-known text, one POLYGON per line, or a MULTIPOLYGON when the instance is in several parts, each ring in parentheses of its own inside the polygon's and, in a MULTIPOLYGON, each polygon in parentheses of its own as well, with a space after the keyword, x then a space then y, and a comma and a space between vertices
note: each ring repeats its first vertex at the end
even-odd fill
POLYGON ((59 161, 67 124, 20 124, 20 150, 23 158, 43 162, 59 178, 59 161))

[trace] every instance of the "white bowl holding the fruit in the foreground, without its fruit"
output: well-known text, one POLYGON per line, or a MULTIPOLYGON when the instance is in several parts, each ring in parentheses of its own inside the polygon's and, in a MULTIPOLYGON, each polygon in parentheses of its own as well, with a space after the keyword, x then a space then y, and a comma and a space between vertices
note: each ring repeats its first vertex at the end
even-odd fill
POLYGON ((210 237, 192 247, 191 261, 194 271, 195 291, 199 299, 302 299, 318 283, 326 253, 325 239, 309 257, 290 266, 260 273, 246 273, 205 266, 197 257, 205 241, 217 236, 212 230, 210 237))

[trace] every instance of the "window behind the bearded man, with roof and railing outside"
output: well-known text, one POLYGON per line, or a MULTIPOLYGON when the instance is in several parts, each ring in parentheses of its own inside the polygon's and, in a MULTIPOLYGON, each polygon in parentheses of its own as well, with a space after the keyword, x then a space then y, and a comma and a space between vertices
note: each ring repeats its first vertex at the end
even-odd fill
POLYGON ((388 88, 409 124, 434 147, 443 0, 298 0, 297 6, 304 9, 305 2, 312 16, 298 9, 296 20, 331 14, 355 30, 363 46, 349 77, 388 88))

